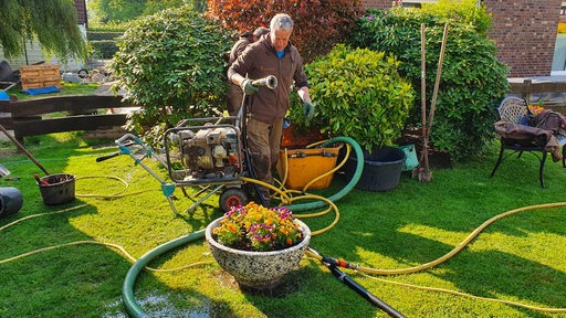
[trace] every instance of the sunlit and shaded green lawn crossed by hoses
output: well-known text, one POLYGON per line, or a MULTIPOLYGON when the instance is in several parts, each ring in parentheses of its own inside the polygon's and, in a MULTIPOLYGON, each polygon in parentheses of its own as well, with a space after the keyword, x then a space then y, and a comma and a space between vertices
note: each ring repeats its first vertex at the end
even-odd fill
MULTIPOLYGON (((7 259, 77 241, 117 244, 138 258, 221 216, 216 195, 193 213, 176 216, 157 180, 127 156, 95 162, 96 157, 116 151, 108 140, 54 134, 27 138, 25 142, 51 173, 75 174, 78 194, 120 191, 123 184, 111 176, 129 187, 124 192, 127 195, 114 200, 77 197, 72 203, 46 206, 31 177, 41 174, 40 169, 17 153, 14 146, 0 145, 0 163, 11 177, 21 177, 19 181, 2 180, 0 187, 17 187, 24 200, 19 213, 0 219, 1 317, 127 317, 120 292, 132 262, 113 247, 81 244, 7 259), (86 178, 91 176, 96 178, 86 178), (81 204, 86 205, 63 212, 81 204)), ((541 189, 536 158, 528 155, 505 161, 497 174, 489 178, 496 151, 494 145, 485 157, 450 169, 433 168, 430 183, 420 183, 405 172, 394 191, 353 190, 336 202, 339 222, 313 237, 311 246, 366 267, 407 268, 441 257, 494 215, 564 201, 566 169, 562 165, 547 163, 547 189, 541 189)), ((156 162, 144 162, 166 176, 156 162)), ((344 186, 337 176, 329 189, 313 192, 328 195, 344 186)), ((191 204, 181 191, 175 194, 178 209, 191 204)), ((565 211, 548 208, 507 216, 454 257, 427 271, 392 276, 345 273, 407 317, 548 317, 552 315, 421 288, 565 308, 565 211)), ((318 230, 334 218, 327 214, 303 221, 318 230)), ((387 317, 311 258, 304 258, 271 295, 240 290, 213 262, 203 241, 181 246, 149 265, 177 268, 196 262, 211 263, 170 273, 143 272, 135 295, 144 310, 151 317, 387 317)), ((566 317, 560 315, 555 317, 566 317)))

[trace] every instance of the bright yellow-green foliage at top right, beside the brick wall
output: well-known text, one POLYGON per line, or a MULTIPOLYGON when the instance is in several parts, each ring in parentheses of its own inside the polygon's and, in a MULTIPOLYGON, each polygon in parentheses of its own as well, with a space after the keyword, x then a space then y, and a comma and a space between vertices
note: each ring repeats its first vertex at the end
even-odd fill
POLYGON ((422 3, 421 11, 446 23, 471 25, 482 36, 486 36, 493 22, 485 4, 478 7, 478 0, 439 0, 437 3, 422 3))

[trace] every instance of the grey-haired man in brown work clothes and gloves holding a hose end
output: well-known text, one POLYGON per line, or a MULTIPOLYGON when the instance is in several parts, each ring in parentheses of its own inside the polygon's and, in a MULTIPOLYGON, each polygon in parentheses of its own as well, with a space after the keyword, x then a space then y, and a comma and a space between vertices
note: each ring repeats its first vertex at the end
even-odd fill
MULTIPOLYGON (((279 160, 283 117, 290 107, 291 87, 297 89, 307 119, 314 115, 307 78, 298 51, 289 39, 293 20, 276 14, 270 23, 270 33, 249 45, 228 70, 228 78, 250 96, 248 104, 247 138, 251 155, 250 168, 258 180, 273 184, 272 169, 279 160), (275 89, 254 86, 253 80, 269 75, 277 78, 275 89), (244 77, 247 76, 247 77, 244 77)), ((269 204, 269 190, 261 188, 260 199, 269 204)))

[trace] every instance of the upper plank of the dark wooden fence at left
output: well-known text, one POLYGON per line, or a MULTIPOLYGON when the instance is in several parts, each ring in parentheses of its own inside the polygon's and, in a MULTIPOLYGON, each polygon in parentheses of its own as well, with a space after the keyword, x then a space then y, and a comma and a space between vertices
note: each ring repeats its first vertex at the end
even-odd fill
POLYGON ((57 96, 29 100, 0 102, 0 112, 12 113, 12 117, 50 114, 55 112, 88 112, 99 108, 132 107, 122 102, 122 96, 57 96))

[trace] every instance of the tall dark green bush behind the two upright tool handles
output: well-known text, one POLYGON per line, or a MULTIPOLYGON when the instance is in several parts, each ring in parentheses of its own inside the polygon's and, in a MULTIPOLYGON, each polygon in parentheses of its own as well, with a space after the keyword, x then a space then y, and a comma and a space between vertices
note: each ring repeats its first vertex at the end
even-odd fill
MULTIPOLYGON (((352 33, 355 46, 392 53, 403 62, 399 73, 419 87, 421 76, 420 24, 426 29, 427 105, 437 76, 443 23, 438 17, 396 8, 370 10, 352 33)), ((494 109, 509 91, 507 67, 497 61, 495 45, 469 23, 453 21, 438 93, 431 135, 433 146, 453 159, 482 152, 493 135, 494 109), (472 146, 473 145, 473 146, 472 146)), ((417 94, 409 126, 420 126, 420 94, 417 94)))

